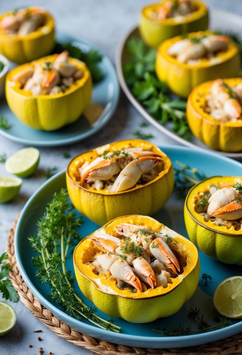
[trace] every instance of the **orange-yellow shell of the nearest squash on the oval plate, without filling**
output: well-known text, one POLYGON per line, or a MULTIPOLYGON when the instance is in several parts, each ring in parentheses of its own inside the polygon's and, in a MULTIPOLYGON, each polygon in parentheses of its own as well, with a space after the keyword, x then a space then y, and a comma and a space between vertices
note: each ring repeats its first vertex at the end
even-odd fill
MULTIPOLYGON (((242 78, 224 79, 229 86, 242 83, 242 78)), ((206 95, 214 81, 207 81, 197 86, 187 100, 188 125, 200 141, 212 149, 223 152, 242 151, 242 120, 219 122, 204 111, 206 95)))

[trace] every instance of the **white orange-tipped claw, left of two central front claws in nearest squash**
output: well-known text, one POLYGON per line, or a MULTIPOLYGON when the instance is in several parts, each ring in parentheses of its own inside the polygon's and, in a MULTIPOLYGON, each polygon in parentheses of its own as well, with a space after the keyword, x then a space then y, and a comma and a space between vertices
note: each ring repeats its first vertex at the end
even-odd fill
POLYGON ((127 284, 135 287, 138 291, 142 292, 142 284, 137 275, 133 272, 131 266, 126 260, 119 259, 115 261, 111 267, 110 272, 116 279, 125 281, 127 284))

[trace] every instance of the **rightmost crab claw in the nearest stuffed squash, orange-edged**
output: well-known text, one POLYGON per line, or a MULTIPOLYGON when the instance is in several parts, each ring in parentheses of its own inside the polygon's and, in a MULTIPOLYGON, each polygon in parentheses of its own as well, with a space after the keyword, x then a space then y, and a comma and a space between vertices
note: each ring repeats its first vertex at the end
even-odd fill
POLYGON ((150 251, 157 260, 171 268, 176 274, 177 270, 178 272, 180 271, 180 265, 176 256, 162 238, 158 237, 150 244, 150 251))

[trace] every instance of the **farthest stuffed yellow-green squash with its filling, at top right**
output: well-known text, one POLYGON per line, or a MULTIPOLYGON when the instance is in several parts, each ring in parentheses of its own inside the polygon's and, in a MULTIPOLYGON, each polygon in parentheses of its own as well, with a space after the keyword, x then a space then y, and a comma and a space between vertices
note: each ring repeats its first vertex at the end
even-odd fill
POLYGON ((140 14, 139 32, 150 47, 188 32, 208 28, 208 9, 201 1, 165 0, 145 6, 140 14))

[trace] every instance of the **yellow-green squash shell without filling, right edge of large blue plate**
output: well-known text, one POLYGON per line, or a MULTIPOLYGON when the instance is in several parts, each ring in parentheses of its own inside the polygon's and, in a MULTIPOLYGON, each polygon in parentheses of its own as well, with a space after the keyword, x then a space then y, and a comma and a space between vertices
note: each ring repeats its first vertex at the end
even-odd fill
POLYGON ((234 227, 217 226, 214 222, 205 222, 203 216, 195 211, 199 192, 204 192, 211 184, 219 182, 235 183, 239 177, 213 176, 198 182, 188 192, 184 205, 184 219, 187 234, 199 249, 212 259, 226 264, 242 264, 242 231, 234 227))

